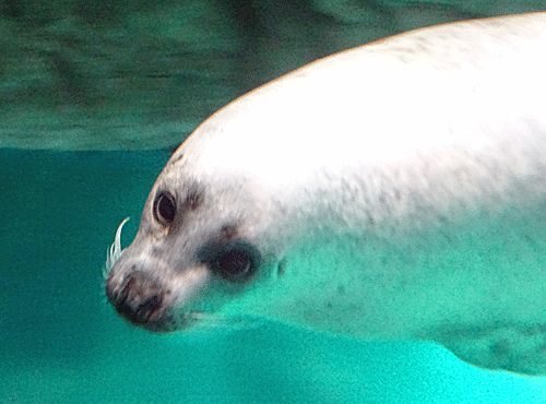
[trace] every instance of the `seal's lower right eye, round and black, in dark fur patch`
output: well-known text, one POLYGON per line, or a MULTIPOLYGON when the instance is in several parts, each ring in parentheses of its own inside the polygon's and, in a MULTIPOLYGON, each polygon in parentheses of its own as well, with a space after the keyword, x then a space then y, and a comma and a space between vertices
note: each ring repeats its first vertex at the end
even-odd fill
POLYGON ((219 252, 212 269, 230 282, 241 282, 256 272, 259 253, 246 242, 235 242, 219 252))

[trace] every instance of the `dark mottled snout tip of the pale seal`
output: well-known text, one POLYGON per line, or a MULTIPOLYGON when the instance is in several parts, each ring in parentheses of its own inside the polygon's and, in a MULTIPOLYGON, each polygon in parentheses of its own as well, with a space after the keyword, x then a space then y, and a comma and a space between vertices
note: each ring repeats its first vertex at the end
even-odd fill
POLYGON ((165 297, 169 294, 149 274, 140 271, 118 278, 118 282, 109 276, 106 282, 106 296, 118 313, 151 331, 168 331, 173 319, 165 297))

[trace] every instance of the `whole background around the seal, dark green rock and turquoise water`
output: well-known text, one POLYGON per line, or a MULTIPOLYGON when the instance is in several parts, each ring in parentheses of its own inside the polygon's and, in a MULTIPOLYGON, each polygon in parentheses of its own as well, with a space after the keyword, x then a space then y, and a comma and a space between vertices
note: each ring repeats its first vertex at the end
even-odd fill
POLYGON ((435 344, 268 322, 152 334, 116 314, 103 278, 117 226, 131 217, 128 246, 169 147, 236 96, 418 26, 545 9, 0 1, 0 404, 546 403, 546 378, 480 370, 435 344))

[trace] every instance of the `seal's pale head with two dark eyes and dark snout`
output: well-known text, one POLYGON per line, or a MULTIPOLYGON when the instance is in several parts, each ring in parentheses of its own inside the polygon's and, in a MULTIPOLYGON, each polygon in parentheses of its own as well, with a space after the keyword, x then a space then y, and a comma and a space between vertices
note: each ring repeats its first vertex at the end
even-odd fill
POLYGON ((189 164, 181 156, 167 164, 138 236, 110 259, 108 299, 121 317, 151 331, 206 323, 271 271, 273 250, 262 234, 272 221, 269 193, 240 178, 198 177, 189 164))

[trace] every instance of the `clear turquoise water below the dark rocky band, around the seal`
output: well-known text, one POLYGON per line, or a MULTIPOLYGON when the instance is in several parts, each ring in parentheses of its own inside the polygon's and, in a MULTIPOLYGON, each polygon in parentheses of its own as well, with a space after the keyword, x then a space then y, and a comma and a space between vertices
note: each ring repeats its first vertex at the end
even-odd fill
POLYGON ((544 403, 544 379, 424 343, 363 343, 264 323, 155 335, 103 294, 167 152, 0 150, 0 403, 544 403))

